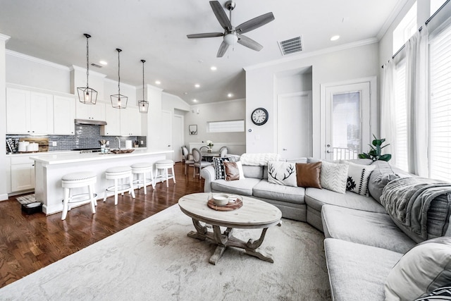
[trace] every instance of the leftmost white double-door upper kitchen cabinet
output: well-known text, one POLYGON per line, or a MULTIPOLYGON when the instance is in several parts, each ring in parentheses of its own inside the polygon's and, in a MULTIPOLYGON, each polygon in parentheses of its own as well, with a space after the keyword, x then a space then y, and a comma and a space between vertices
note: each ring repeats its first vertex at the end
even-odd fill
POLYGON ((6 133, 53 134, 53 95, 6 89, 6 133))

